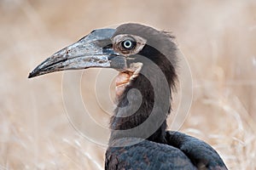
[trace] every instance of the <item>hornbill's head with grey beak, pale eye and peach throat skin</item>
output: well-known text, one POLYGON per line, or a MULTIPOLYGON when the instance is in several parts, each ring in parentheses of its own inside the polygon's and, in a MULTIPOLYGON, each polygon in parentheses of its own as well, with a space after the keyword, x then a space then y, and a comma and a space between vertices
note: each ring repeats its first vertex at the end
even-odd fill
POLYGON ((116 93, 120 95, 143 70, 157 75, 153 66, 157 65, 172 88, 177 76, 176 45, 172 38, 164 31, 131 23, 116 29, 94 30, 44 60, 28 78, 55 71, 113 68, 119 71, 116 93))

